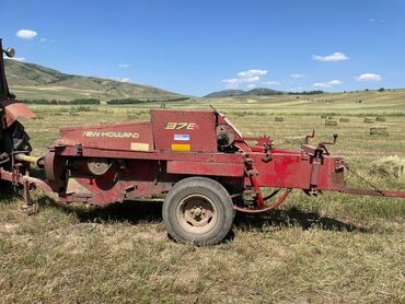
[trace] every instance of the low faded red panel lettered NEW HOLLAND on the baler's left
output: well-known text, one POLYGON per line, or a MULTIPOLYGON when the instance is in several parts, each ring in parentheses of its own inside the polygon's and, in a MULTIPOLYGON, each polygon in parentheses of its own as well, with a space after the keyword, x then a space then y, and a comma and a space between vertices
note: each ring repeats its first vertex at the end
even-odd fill
MULTIPOLYGON (((114 151, 153 151, 151 122, 105 124, 62 128, 60 144, 82 144, 85 148, 99 148, 114 151)), ((109 157, 106 151, 104 157, 109 157)))

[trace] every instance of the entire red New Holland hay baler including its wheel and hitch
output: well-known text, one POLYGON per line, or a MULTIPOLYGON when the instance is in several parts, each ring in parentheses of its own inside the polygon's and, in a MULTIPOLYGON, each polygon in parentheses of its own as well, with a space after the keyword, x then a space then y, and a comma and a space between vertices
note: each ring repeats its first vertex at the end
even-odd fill
POLYGON ((169 233, 199 245, 223 239, 235 210, 269 211, 292 189, 405 198, 404 191, 348 188, 344 160, 326 148, 337 136, 311 145, 313 137, 299 151, 281 150, 269 137, 243 137, 215 109, 152 109, 150 121, 62 128, 43 159, 4 151, 10 166, 0 168, 0 178, 22 185, 28 204, 35 188, 58 194, 62 203, 96 206, 165 195, 169 233), (30 162, 45 168, 46 182, 27 175, 30 162), (264 197, 264 188, 273 191, 264 197))

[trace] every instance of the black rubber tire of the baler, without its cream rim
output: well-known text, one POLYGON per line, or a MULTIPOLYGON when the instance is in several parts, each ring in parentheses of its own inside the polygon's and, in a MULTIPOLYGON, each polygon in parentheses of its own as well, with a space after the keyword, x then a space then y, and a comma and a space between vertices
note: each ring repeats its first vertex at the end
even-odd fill
POLYGON ((215 245, 231 231, 235 211, 227 189, 218 182, 207 177, 187 177, 177 182, 166 195, 162 208, 163 221, 169 234, 178 243, 215 245), (216 208, 216 222, 210 231, 192 233, 182 227, 177 209, 182 201, 193 195, 207 197, 216 208))

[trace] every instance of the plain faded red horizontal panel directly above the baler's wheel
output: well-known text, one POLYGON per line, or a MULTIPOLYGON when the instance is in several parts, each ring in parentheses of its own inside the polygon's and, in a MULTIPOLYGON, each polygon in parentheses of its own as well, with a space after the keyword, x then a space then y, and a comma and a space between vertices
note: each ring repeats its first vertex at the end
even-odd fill
POLYGON ((167 173, 189 175, 239 176, 244 175, 241 163, 210 163, 190 161, 167 161, 167 173))

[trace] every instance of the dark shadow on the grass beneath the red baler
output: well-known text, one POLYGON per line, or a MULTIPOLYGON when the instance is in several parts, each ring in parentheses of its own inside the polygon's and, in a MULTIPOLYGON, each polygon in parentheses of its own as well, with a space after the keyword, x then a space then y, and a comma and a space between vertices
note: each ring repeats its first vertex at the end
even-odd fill
MULTIPOLYGON (((161 222, 162 201, 125 201, 113 203, 105 208, 89 207, 86 204, 58 204, 49 197, 40 197, 36 201, 38 206, 50 206, 73 213, 80 222, 108 223, 128 222, 131 224, 161 222)), ((290 210, 273 210, 262 215, 250 215, 236 212, 234 225, 241 230, 265 231, 268 226, 288 227, 299 226, 309 230, 316 226, 327 231, 370 232, 369 229, 345 223, 336 219, 321 217, 316 212, 306 212, 298 208, 290 210)))

